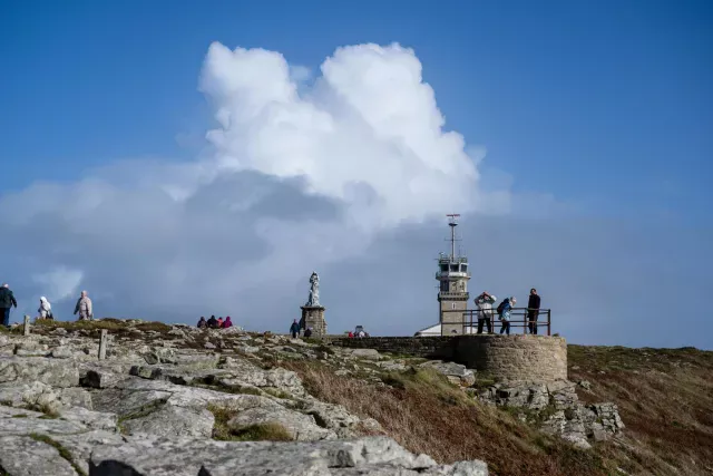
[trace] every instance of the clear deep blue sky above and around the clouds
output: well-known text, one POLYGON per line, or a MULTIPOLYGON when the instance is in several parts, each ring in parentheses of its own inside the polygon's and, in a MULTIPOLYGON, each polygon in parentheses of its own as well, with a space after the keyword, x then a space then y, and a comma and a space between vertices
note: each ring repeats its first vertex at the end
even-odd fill
MULTIPOLYGON (((422 64, 445 128, 487 149, 486 188, 652 229, 608 240, 648 250, 637 262, 692 292, 713 264, 712 25, 706 1, 3 1, 0 197, 120 161, 205 155, 214 124, 198 78, 213 41, 279 51, 315 76, 340 46, 395 41, 422 64)), ((661 332, 654 343, 685 343, 661 332)))

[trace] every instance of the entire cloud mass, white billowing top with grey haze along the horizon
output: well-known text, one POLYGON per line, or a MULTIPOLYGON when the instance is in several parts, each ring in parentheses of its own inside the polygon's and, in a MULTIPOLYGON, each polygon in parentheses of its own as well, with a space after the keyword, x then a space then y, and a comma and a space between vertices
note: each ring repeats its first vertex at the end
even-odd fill
POLYGON ((537 285, 575 340, 684 342, 691 317, 666 331, 671 315, 647 292, 702 299, 702 258, 660 225, 573 220, 551 195, 489 179, 480 149, 445 128, 412 50, 339 48, 312 77, 279 52, 214 43, 199 89, 215 125, 195 161, 118 162, 0 195, 0 279, 22 313, 47 295, 67 319, 87 289, 99 315, 229 314, 280 331, 316 270, 331 331, 411 334, 437 320, 432 259, 445 213, 460 212, 471 292, 524 300, 537 285), (668 245, 673 264, 651 262, 668 245))

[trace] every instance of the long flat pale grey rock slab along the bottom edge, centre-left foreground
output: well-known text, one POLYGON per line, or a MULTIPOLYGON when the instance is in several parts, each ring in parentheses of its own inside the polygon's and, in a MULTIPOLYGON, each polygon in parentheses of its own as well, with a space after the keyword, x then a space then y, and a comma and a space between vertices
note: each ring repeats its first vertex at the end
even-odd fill
POLYGON ((438 466, 430 457, 413 455, 385 437, 316 443, 131 441, 98 447, 90 468, 96 472, 91 474, 102 476, 128 474, 126 468, 144 476, 488 474, 480 463, 438 466))

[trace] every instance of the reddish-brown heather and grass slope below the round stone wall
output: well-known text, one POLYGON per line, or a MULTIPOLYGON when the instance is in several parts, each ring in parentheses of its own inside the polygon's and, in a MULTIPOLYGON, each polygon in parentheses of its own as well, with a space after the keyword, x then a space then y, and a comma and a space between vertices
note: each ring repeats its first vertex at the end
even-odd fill
POLYGON ((569 347, 580 400, 613 401, 622 438, 580 450, 482 405, 428 372, 393 375, 389 388, 319 363, 291 368, 320 399, 381 422, 408 449, 437 460, 486 460, 495 475, 707 475, 713 472, 713 352, 569 347))

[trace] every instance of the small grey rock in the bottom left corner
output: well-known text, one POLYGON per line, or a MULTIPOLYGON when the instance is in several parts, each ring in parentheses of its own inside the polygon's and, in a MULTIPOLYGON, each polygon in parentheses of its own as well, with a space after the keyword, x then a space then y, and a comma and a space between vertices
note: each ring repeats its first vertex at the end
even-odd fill
POLYGON ((77 476, 57 448, 29 436, 0 437, 0 468, 11 476, 77 476))

